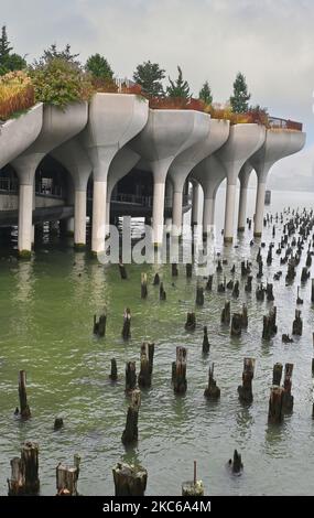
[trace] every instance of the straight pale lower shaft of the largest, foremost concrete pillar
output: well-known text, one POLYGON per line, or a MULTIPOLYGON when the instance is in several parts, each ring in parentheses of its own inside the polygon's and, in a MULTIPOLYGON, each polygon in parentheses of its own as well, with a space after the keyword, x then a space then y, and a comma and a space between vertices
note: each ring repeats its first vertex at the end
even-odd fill
POLYGON ((104 251, 106 237, 107 181, 94 181, 91 251, 104 251))

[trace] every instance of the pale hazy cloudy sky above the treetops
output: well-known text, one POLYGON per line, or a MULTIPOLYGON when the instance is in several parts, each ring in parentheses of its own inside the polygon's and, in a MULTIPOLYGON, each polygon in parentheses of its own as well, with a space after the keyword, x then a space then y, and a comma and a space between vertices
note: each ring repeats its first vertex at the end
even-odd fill
POLYGON ((104 54, 119 77, 151 60, 183 68, 193 93, 208 79, 225 101, 238 71, 251 101, 305 123, 314 142, 313 0, 0 0, 15 51, 32 61, 53 42, 82 60, 104 54))

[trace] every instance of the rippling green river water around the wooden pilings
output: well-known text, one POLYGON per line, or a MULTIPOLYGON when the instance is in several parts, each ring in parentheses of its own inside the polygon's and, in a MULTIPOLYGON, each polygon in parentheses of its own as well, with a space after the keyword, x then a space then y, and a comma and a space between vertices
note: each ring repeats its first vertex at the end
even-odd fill
MULTIPOLYGON (((219 202, 219 196, 221 197, 219 202)), ((252 214, 252 195, 249 214, 252 214)), ((221 226, 218 194, 217 220, 221 226)), ((307 193, 272 193, 272 213, 283 206, 311 207, 307 193)), ((248 304, 249 326, 239 339, 230 338, 220 325, 226 299, 217 293, 215 273, 212 293, 205 293, 203 307, 195 307, 196 277, 185 277, 180 266, 178 278, 171 267, 160 267, 167 300, 159 301, 159 289, 152 287, 155 267, 128 266, 122 281, 117 266, 102 266, 88 255, 74 252, 72 240, 37 244, 30 262, 10 259, 12 250, 0 248, 0 494, 7 493, 10 460, 19 455, 20 444, 33 440, 40 444, 40 478, 43 495, 55 494, 55 467, 59 461, 72 464, 73 455, 82 456, 78 490, 84 495, 112 495, 111 468, 127 460, 148 468, 148 495, 180 495, 183 481, 192 478, 193 461, 206 495, 311 495, 314 483, 314 421, 312 420, 314 331, 311 306, 311 281, 301 289, 303 336, 293 344, 282 344, 281 334, 291 333, 296 287, 300 283, 303 253, 296 280, 285 287, 286 266, 279 266, 274 253, 264 278, 275 271, 284 274, 274 282, 278 307, 278 334, 261 339, 262 315, 271 304, 258 302, 255 295, 258 244, 249 247, 252 231, 238 241, 239 248, 224 248, 218 233, 217 250, 228 259, 227 280, 232 262, 242 258, 255 266, 253 291, 231 301, 231 311, 248 304), (149 278, 149 296, 140 298, 141 272, 149 278), (174 282, 174 285, 172 285, 174 282), (107 333, 104 339, 93 337, 93 315, 107 307, 107 333), (132 314, 132 338, 121 338, 122 316, 129 306, 132 314), (197 328, 184 331, 187 311, 196 311, 197 328), (202 356, 203 326, 207 325, 210 354, 202 356), (129 450, 121 443, 128 398, 124 395, 124 363, 137 360, 143 341, 155 343, 152 388, 142 391, 139 417, 139 442, 129 450), (171 385, 171 364, 177 345, 186 346, 187 392, 175 397, 171 385), (246 356, 256 358, 255 400, 242 406, 237 387, 241 382, 246 356), (116 357, 119 380, 108 379, 110 359, 116 357), (220 401, 204 398, 208 363, 215 363, 215 378, 221 390, 220 401), (281 427, 269 427, 268 400, 275 361, 294 364, 292 393, 294 410, 281 427), (29 421, 13 412, 18 406, 18 373, 28 373, 28 395, 32 411, 29 421), (53 431, 56 416, 65 427, 53 431), (234 449, 242 454, 245 471, 231 476, 226 462, 234 449)), ((263 239, 271 240, 271 228, 263 239)), ((274 239, 280 240, 278 230, 274 239)), ((267 250, 263 250, 266 257, 267 250)), ((236 278, 240 279, 239 268, 236 278)), ((221 279, 221 278, 220 278, 221 279)), ((204 280, 205 284, 205 280, 204 280)), ((230 298, 230 293, 227 293, 230 298)))

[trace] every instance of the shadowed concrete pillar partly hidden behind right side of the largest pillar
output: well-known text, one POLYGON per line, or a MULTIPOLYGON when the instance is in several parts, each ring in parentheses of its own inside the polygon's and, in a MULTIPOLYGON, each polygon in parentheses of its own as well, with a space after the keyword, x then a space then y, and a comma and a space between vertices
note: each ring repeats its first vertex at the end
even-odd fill
POLYGON ((116 157, 113 158, 109 172, 108 172, 108 183, 107 183, 107 207, 106 207, 106 222, 109 225, 110 222, 110 201, 111 194, 115 185, 119 180, 126 176, 131 169, 139 162, 140 155, 132 151, 130 148, 124 145, 116 157))

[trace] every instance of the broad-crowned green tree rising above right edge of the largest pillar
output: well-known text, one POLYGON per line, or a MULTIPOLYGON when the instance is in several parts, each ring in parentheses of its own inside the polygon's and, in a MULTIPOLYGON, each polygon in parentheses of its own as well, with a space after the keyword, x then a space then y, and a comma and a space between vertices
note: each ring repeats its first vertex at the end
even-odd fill
POLYGON ((159 97, 164 94, 161 80, 164 79, 165 71, 158 63, 150 61, 137 66, 133 73, 134 82, 142 87, 144 94, 159 97))

